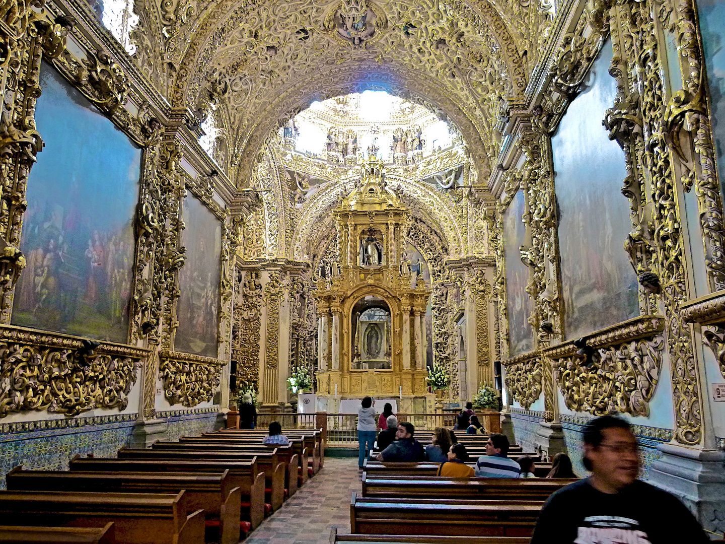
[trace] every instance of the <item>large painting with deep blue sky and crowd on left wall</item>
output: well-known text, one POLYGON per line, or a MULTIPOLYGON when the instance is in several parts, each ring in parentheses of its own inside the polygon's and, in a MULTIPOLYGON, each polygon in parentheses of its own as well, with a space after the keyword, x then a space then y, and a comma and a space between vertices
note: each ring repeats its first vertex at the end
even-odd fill
POLYGON ((12 323, 128 342, 141 150, 43 63, 12 323))

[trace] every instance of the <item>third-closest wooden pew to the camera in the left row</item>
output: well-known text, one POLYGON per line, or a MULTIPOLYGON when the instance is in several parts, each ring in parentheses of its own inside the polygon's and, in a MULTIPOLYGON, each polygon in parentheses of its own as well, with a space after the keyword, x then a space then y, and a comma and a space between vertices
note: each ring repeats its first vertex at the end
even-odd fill
POLYGON ((34 471, 17 466, 7 474, 11 491, 89 491, 103 493, 173 493, 185 490, 186 506, 204 510, 207 527, 218 527, 220 544, 239 543, 241 490, 229 471, 80 472, 34 471))

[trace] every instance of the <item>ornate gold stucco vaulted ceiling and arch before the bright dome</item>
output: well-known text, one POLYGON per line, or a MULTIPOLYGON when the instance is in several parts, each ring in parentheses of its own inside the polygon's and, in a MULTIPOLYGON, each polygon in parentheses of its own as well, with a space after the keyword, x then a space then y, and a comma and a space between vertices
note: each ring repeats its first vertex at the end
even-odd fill
POLYGON ((487 178, 502 107, 523 94, 550 25, 530 0, 136 0, 136 12, 137 62, 173 106, 212 104, 240 187, 281 123, 368 88, 453 123, 487 178))

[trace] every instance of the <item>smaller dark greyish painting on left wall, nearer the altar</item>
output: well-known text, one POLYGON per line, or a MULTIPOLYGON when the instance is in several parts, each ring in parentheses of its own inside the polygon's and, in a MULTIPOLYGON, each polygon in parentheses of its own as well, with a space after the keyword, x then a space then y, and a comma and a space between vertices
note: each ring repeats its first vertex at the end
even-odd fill
POLYGON ((221 222, 191 194, 183 201, 183 222, 186 261, 179 273, 174 350, 217 357, 221 222))

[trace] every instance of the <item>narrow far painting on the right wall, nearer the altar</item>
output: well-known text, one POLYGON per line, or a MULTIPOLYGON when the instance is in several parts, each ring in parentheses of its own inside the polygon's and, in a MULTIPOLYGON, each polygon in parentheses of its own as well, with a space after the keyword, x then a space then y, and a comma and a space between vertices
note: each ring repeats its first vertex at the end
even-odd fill
POLYGON ((531 297, 526 292, 529 267, 521 262, 518 249, 526 242, 526 225, 521 220, 523 205, 523 192, 518 191, 503 216, 509 355, 512 357, 534 349, 534 335, 529 324, 531 297))

